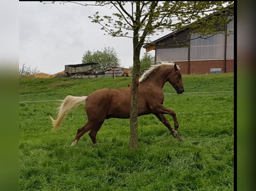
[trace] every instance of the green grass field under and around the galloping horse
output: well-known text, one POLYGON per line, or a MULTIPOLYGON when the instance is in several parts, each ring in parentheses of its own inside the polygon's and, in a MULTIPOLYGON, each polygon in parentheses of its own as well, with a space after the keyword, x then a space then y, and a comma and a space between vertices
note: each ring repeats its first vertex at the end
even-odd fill
MULTIPOLYGON (((177 113, 179 135, 152 114, 138 118, 139 144, 129 151, 129 119, 105 120, 94 146, 88 133, 74 147, 87 121, 84 105, 57 131, 57 100, 101 88, 123 88, 131 78, 19 80, 19 189, 66 190, 234 190, 234 74, 183 75, 184 93, 165 95, 177 113), (44 100, 44 101, 42 101, 44 100), (40 102, 24 102, 40 101, 40 102)), ((170 84, 164 93, 175 93, 170 84)), ((171 116, 165 115, 173 126, 171 116)))

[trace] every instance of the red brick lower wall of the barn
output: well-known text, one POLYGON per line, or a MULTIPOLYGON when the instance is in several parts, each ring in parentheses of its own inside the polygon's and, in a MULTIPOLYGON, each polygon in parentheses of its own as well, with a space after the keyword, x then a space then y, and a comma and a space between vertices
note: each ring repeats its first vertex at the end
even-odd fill
MULTIPOLYGON (((175 62, 181 74, 188 74, 188 62, 175 62)), ((226 72, 234 72, 234 60, 226 60, 226 72)), ((224 60, 205 60, 205 61, 190 61, 190 74, 206 74, 211 68, 221 68, 225 72, 224 60)))

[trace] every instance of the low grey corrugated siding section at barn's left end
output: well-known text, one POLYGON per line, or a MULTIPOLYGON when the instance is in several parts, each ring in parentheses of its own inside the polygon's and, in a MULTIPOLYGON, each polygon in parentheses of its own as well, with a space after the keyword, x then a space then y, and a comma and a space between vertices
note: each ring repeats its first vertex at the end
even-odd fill
POLYGON ((156 61, 187 61, 188 48, 157 49, 156 61))

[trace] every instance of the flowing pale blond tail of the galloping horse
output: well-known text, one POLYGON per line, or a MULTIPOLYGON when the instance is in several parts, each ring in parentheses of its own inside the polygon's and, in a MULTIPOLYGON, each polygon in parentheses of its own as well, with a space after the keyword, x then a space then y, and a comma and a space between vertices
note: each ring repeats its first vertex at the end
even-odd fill
POLYGON ((51 130, 56 130, 61 125, 63 119, 66 118, 66 116, 69 114, 69 112, 77 108, 81 103, 85 103, 88 96, 71 96, 68 95, 64 101, 62 101, 61 105, 58 107, 58 115, 57 119, 54 120, 51 116, 52 126, 53 128, 51 130))

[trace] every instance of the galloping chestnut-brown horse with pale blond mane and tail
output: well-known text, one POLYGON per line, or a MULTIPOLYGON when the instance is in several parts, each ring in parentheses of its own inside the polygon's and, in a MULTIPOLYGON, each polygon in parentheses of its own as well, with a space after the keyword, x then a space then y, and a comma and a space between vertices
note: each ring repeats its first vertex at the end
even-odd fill
MULTIPOLYGON (((152 65, 142 77, 139 79, 138 92, 138 116, 153 113, 171 132, 173 137, 179 141, 183 139, 178 136, 177 130, 179 127, 176 113, 163 106, 163 86, 169 82, 176 90, 177 94, 184 92, 183 83, 179 67, 171 63, 158 63, 152 65), (163 114, 170 114, 174 120, 174 129, 163 114)), ((109 118, 130 118, 131 109, 131 87, 122 89, 101 89, 88 96, 71 96, 68 95, 62 104, 58 107, 57 119, 54 120, 51 116, 52 130, 58 129, 62 121, 68 113, 78 107, 81 103, 86 103, 85 111, 88 121, 85 125, 78 129, 77 135, 71 144, 75 145, 81 136, 87 131, 92 139, 93 144, 96 144, 96 135, 100 130, 105 119, 109 118)))

